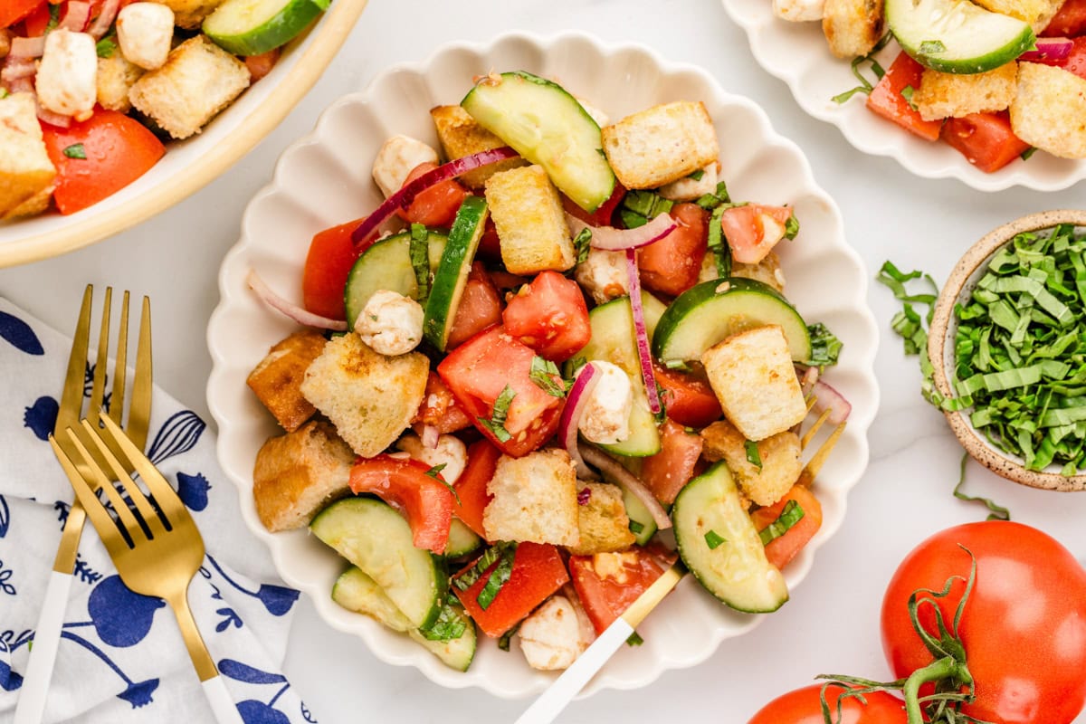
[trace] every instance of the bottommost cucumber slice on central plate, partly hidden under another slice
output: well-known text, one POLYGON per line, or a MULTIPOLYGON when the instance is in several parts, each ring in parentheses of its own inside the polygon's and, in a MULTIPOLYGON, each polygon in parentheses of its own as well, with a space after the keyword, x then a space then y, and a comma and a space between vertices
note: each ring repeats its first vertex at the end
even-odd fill
POLYGON ((392 631, 407 634, 452 669, 467 671, 475 658, 475 624, 457 607, 453 611, 467 624, 464 634, 447 642, 431 642, 411 625, 407 617, 396 608, 376 581, 353 566, 336 581, 332 600, 349 611, 377 619, 392 631))

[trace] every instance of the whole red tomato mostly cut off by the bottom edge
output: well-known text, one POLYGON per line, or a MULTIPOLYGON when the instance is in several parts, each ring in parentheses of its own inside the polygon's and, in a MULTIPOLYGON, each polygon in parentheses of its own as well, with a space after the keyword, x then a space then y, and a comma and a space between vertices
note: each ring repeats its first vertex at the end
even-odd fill
MULTIPOLYGON (((758 710, 747 724, 825 724, 822 716, 822 684, 812 684, 801 689, 783 694, 758 710)), ((844 687, 831 684, 825 689, 825 701, 831 715, 836 715, 837 699, 844 687)), ((837 724, 905 724, 905 704, 900 699, 885 691, 864 694, 867 703, 856 697, 848 697, 842 704, 841 722, 837 724)))

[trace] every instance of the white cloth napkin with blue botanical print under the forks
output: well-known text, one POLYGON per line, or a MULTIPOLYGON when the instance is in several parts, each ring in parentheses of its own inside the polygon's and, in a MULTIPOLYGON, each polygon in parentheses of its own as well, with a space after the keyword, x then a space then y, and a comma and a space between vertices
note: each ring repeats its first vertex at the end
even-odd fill
MULTIPOLYGON (((75 317, 73 309, 73 323, 75 317)), ((48 443, 70 348, 68 338, 0 297, 0 722, 14 715, 74 497, 48 443)), ((87 396, 92 374, 88 365, 87 396)), ((278 581, 267 550, 241 522, 237 490, 218 468, 206 423, 155 388, 148 440, 148 456, 203 534, 206 556, 189 602, 242 719, 315 722, 280 673, 299 594, 278 581)), ((173 611, 125 587, 89 521, 45 721, 214 721, 173 611)))

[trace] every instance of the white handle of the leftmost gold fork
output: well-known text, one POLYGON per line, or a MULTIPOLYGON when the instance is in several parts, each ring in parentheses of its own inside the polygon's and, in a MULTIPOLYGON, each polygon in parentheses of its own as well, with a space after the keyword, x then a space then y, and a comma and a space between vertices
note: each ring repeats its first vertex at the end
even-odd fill
POLYGON ((30 660, 23 676, 23 686, 15 702, 14 724, 39 724, 41 713, 46 710, 46 699, 49 697, 49 682, 53 677, 53 664, 56 662, 56 647, 61 643, 61 627, 64 625, 64 611, 67 608, 67 596, 72 589, 72 574, 52 571, 49 574, 49 586, 46 588, 46 599, 38 614, 38 626, 34 630, 34 645, 30 647, 30 660))

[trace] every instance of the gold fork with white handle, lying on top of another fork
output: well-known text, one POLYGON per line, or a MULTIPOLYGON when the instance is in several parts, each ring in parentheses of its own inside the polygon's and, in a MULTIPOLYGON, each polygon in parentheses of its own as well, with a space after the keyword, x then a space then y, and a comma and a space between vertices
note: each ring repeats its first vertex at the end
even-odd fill
POLYGON ((98 428, 85 419, 80 421, 83 434, 74 428, 65 431, 77 453, 75 461, 53 435, 50 435, 49 442, 68 472, 76 496, 105 544, 121 580, 138 594, 157 596, 169 604, 216 720, 241 724, 241 715, 218 675, 189 609, 189 583, 204 558, 200 531, 177 493, 140 448, 125 436, 111 418, 104 417, 102 422, 104 427, 98 428), (90 440, 92 445, 88 448, 80 437, 90 440), (98 456, 104 459, 105 466, 99 465, 96 460, 98 456), (80 462, 89 474, 78 472, 80 462), (128 473, 129 466, 147 485, 151 499, 128 473), (111 473, 118 481, 116 486, 110 481, 111 473), (93 490, 99 485, 105 492, 116 520, 94 494, 93 490))

